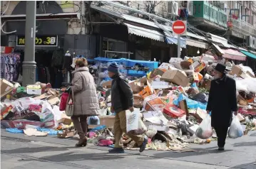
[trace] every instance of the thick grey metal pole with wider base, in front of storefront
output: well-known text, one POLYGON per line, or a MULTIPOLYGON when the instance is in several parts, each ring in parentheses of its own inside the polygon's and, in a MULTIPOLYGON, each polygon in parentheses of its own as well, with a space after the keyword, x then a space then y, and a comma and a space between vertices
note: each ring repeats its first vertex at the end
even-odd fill
POLYGON ((36 1, 26 1, 25 57, 22 85, 36 83, 35 62, 36 1))

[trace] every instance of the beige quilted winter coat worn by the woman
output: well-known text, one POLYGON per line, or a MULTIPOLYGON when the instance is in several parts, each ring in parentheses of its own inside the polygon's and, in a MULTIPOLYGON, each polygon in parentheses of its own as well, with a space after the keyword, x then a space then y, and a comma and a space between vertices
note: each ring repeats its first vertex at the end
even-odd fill
POLYGON ((73 116, 99 114, 95 82, 88 67, 79 67, 72 72, 72 91, 74 92, 73 116))

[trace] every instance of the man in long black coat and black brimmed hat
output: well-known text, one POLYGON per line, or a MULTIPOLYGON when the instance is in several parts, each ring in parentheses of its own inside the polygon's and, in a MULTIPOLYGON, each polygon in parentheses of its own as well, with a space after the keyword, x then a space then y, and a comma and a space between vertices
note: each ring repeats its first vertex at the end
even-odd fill
POLYGON ((217 133, 217 146, 224 151, 227 129, 232 121, 232 112, 237 115, 235 80, 226 76, 225 65, 214 67, 214 80, 210 84, 207 111, 211 111, 212 126, 217 133))

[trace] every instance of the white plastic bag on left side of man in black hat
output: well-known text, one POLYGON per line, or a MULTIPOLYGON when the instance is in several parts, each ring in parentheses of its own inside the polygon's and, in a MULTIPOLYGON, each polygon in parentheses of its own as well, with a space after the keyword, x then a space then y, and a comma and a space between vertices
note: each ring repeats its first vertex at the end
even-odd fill
POLYGON ((211 117, 209 114, 208 114, 208 116, 205 117, 205 119, 199 125, 198 129, 195 131, 195 135, 201 139, 207 139, 207 138, 210 138, 211 136, 213 136, 211 117))

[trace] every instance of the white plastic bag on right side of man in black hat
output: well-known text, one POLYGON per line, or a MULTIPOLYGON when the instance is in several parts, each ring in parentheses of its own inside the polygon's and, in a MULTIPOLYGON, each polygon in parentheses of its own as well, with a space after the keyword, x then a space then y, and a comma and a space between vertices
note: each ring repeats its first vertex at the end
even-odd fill
POLYGON ((230 138, 238 138, 242 137, 243 133, 239 119, 237 116, 234 116, 230 125, 230 130, 228 131, 228 136, 230 138))

